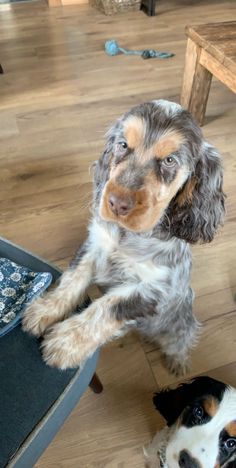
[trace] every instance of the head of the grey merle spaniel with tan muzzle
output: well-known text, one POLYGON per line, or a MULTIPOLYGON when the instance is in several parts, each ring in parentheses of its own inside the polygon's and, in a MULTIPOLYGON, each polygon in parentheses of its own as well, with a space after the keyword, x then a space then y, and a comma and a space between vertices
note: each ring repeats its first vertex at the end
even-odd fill
POLYGON ((130 231, 161 224, 188 242, 208 242, 224 212, 219 154, 178 104, 141 104, 108 133, 95 205, 102 219, 130 231))

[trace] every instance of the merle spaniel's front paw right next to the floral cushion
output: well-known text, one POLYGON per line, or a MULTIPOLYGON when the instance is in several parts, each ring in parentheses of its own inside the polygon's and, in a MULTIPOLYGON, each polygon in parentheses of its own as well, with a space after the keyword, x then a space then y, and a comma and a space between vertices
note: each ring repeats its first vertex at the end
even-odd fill
POLYGON ((41 336, 45 330, 55 323, 55 310, 49 301, 39 297, 28 305, 22 318, 22 328, 34 336, 41 336), (54 312, 54 313, 53 313, 54 312))

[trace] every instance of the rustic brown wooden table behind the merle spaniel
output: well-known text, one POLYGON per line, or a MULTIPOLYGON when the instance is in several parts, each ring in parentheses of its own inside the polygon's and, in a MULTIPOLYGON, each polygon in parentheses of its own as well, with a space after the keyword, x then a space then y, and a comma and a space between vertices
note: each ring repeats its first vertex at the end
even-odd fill
POLYGON ((187 26, 181 104, 203 124, 212 75, 236 93, 236 21, 187 26))

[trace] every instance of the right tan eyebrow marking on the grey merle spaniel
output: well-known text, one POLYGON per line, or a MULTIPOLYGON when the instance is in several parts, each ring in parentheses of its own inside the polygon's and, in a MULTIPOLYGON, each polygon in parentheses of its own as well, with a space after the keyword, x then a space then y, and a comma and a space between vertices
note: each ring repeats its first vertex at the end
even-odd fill
POLYGON ((184 143, 184 135, 177 130, 168 130, 160 136, 154 146, 154 152, 157 158, 166 158, 169 154, 177 151, 184 143))

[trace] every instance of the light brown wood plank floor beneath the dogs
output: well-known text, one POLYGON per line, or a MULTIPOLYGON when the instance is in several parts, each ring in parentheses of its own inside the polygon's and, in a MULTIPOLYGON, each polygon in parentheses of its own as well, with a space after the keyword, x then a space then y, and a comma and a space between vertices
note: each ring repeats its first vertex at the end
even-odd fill
MULTIPOLYGON (((89 6, 42 1, 0 7, 0 232, 66 266, 86 235, 89 166, 121 112, 153 98, 179 100, 186 24, 236 17, 235 0, 159 0, 158 15, 105 17, 89 6), (106 39, 174 52, 170 60, 108 57, 106 39)), ((236 100, 213 81, 205 136, 224 156, 227 220, 194 247, 192 284, 203 335, 191 375, 236 385, 236 100)), ((131 335, 101 353, 104 392, 87 391, 37 468, 139 468, 162 421, 153 391, 175 379, 153 346, 131 335)))

